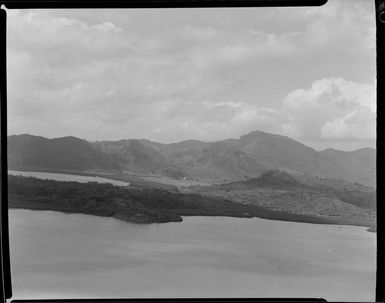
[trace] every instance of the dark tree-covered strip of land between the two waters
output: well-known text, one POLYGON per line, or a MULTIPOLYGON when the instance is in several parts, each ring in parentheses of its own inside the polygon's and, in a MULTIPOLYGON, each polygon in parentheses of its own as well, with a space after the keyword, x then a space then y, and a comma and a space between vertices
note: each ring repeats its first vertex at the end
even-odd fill
POLYGON ((260 217, 338 224, 319 216, 289 214, 222 197, 111 184, 62 182, 9 175, 9 207, 114 217, 135 223, 182 221, 181 216, 260 217))

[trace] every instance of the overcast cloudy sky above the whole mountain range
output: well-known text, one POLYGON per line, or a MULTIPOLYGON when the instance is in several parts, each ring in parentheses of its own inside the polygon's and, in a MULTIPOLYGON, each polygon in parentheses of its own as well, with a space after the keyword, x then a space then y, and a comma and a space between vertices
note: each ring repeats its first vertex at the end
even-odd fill
POLYGON ((7 10, 8 133, 374 147, 374 1, 7 10))

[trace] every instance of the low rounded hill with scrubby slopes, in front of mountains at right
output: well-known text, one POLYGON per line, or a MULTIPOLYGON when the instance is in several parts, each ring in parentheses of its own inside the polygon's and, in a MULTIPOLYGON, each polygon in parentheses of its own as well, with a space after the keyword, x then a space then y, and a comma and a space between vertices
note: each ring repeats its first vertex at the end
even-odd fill
POLYGON ((289 214, 334 218, 346 224, 372 222, 374 225, 376 218, 375 189, 281 170, 269 170, 259 177, 242 181, 189 187, 184 191, 289 214))

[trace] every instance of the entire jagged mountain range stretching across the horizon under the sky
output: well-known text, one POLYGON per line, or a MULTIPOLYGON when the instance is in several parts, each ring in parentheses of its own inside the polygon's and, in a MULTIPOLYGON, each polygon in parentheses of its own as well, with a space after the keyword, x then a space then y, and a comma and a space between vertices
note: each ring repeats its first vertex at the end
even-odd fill
POLYGON ((158 143, 145 139, 89 142, 76 137, 8 137, 14 170, 104 171, 209 182, 256 178, 274 169, 290 175, 343 179, 376 186, 376 150, 316 151, 291 138, 254 131, 217 142, 158 143))

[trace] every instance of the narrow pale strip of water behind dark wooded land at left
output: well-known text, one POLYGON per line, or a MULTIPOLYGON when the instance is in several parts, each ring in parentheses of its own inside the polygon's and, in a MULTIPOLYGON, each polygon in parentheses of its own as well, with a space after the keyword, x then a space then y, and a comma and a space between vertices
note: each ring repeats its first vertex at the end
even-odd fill
POLYGON ((97 183, 110 183, 117 186, 127 186, 129 183, 106 179, 101 177, 93 176, 79 176, 79 175, 70 175, 70 174, 58 174, 58 173, 45 173, 45 172, 34 172, 34 171, 17 171, 17 170, 8 170, 8 174, 16 176, 25 176, 25 177, 35 177, 39 179, 50 179, 56 181, 76 181, 80 183, 87 182, 97 182, 97 183))

